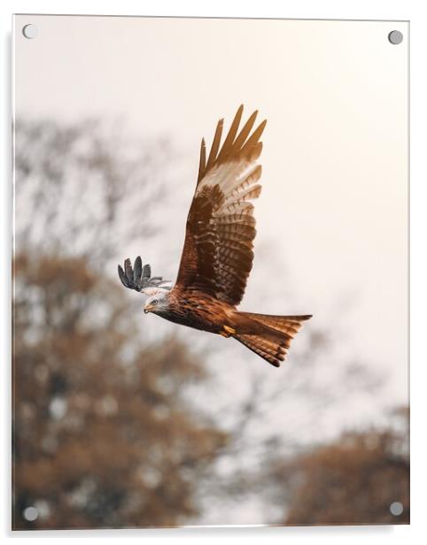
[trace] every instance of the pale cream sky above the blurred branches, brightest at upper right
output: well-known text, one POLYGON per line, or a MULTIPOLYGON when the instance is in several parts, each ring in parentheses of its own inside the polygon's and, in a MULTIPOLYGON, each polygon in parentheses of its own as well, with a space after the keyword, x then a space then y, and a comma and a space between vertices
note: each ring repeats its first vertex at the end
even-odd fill
POLYGON ((348 354, 384 372, 384 403, 407 401, 407 23, 17 16, 15 25, 17 116, 125 119, 188 154, 188 200, 168 219, 176 263, 201 137, 211 142, 239 104, 246 116, 259 109, 263 191, 243 308, 313 313, 348 354), (27 23, 34 40, 21 34, 27 23), (387 40, 394 29, 400 45, 387 40), (262 300, 266 281, 281 282, 280 268, 265 278, 264 245, 286 264, 298 308, 262 300))

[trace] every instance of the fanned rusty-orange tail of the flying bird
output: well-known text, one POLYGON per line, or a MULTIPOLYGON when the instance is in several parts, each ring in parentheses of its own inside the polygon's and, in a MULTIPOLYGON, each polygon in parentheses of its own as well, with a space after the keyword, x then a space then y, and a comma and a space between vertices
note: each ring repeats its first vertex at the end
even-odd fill
POLYGON ((252 312, 239 314, 245 318, 245 333, 237 333, 233 337, 275 367, 279 367, 280 362, 286 358, 291 340, 299 332, 302 322, 311 318, 311 315, 271 316, 252 312), (247 319, 253 322, 253 333, 247 326, 247 319))

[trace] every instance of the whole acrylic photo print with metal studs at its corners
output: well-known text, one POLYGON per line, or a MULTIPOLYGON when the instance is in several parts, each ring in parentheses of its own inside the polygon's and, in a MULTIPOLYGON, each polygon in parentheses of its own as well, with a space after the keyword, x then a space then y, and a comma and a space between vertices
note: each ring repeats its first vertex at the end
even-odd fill
POLYGON ((13 25, 12 527, 408 524, 408 22, 13 25))

